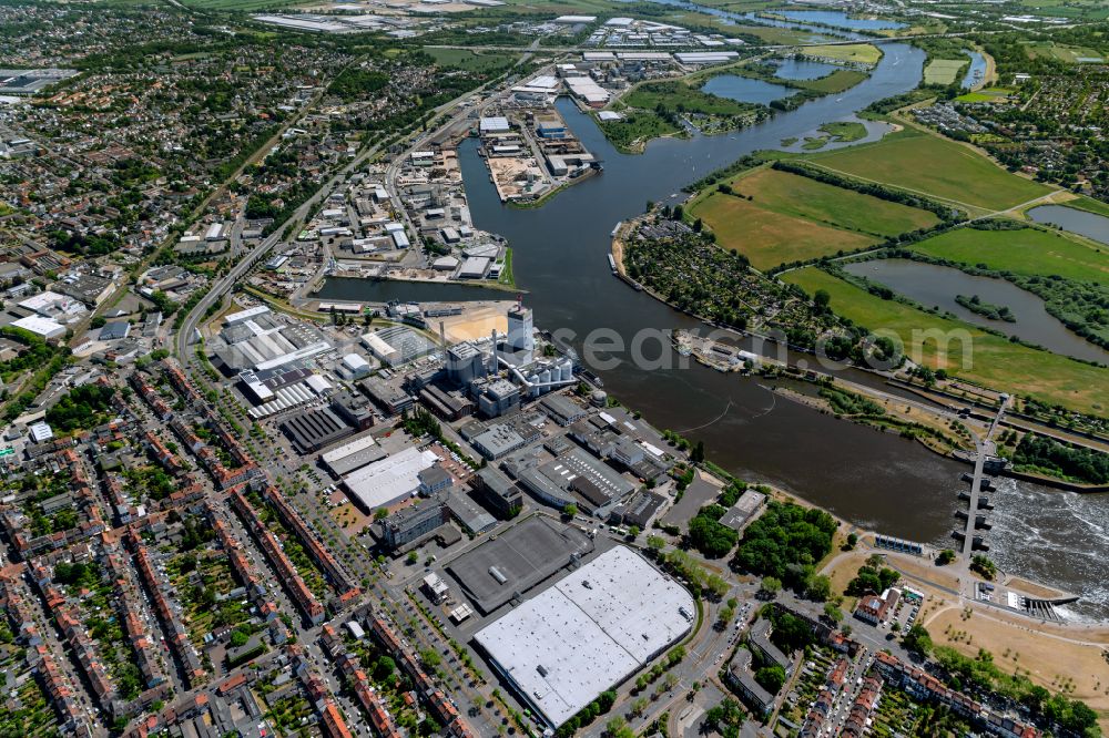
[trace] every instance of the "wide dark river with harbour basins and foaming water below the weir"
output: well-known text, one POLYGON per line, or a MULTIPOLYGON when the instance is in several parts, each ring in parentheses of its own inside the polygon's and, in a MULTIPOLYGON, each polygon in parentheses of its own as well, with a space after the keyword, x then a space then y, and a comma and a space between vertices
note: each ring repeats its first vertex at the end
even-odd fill
MULTIPOLYGON (((681 197, 683 186, 744 154, 812 134, 822 123, 854 120, 869 103, 915 88, 924 52, 898 43, 883 44, 883 50, 871 78, 838 96, 805 103, 732 134, 655 141, 639 155, 617 152, 588 115, 560 100, 567 123, 604 162, 604 172, 576 183, 542 207, 510 208, 497 197, 476 141, 467 140, 460 165, 474 223, 508 238, 513 271, 527 290, 536 324, 572 331, 576 348, 597 329, 611 330, 630 344, 644 329, 703 328, 611 275, 606 255, 613 227, 642 213, 648 201, 681 197)), ((383 287, 386 284, 332 279, 321 296, 379 300, 387 289, 393 298, 434 299, 423 288, 408 296, 404 286, 383 287)), ((657 344, 644 352, 658 355, 660 349, 652 347, 657 344)), ((672 363, 679 361, 669 347, 661 351, 672 363)), ((628 352, 613 356, 619 360, 614 368, 592 367, 608 391, 659 428, 703 441, 710 458, 733 473, 773 482, 867 529, 920 542, 949 542, 965 465, 913 441, 782 399, 759 379, 695 363, 645 368, 629 360, 628 352)), ((853 376, 873 381, 858 372, 853 376)), ((998 512, 989 540, 998 564, 1080 594, 1076 609, 1085 615, 1109 617, 1109 584, 1097 568, 1109 557, 1109 499, 1010 481, 1003 481, 1001 491, 991 496, 998 512)))

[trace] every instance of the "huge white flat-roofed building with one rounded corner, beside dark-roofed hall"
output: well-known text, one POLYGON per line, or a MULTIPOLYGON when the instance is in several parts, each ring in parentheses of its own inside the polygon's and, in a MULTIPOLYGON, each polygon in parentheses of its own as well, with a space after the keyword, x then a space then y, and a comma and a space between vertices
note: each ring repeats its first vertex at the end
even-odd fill
POLYGON ((689 633, 695 612, 689 592, 617 546, 475 637, 557 727, 689 633))

